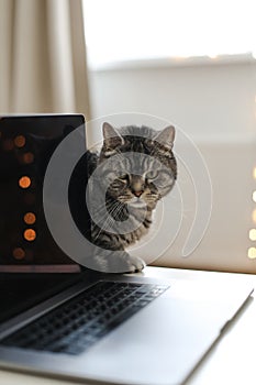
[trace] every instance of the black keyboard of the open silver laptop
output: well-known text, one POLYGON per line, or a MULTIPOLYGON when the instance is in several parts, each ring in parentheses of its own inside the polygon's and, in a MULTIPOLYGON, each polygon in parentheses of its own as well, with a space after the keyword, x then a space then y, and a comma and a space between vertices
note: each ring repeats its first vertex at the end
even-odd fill
POLYGON ((80 354, 163 294, 168 286, 99 282, 0 343, 80 354))

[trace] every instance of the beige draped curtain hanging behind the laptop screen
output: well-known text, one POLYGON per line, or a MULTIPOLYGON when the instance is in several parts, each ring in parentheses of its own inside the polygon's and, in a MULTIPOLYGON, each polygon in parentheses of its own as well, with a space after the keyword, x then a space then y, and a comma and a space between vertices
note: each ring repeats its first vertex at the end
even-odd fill
POLYGON ((90 119, 81 0, 0 0, 0 113, 90 119))

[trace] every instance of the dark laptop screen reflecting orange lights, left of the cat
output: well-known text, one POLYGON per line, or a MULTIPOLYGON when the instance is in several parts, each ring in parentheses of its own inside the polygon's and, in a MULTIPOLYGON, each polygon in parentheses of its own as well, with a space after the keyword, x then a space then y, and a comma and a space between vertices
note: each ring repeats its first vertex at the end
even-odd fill
MULTIPOLYGON (((79 270, 56 244, 47 227, 43 184, 54 151, 64 138, 81 125, 85 127, 81 114, 11 116, 0 119, 1 272, 79 270)), ((81 162, 78 164, 81 166, 81 162)), ((86 170, 79 169, 75 167, 70 178, 69 205, 75 222, 86 233, 89 231, 88 216, 81 204, 82 189, 79 188, 79 184, 84 188, 86 186, 86 170), (81 211, 84 215, 79 217, 78 212, 81 211)))

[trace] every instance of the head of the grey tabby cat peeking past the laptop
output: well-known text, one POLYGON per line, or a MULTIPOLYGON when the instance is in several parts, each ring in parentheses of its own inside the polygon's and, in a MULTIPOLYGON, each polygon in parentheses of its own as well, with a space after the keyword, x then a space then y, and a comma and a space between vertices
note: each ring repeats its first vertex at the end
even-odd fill
POLYGON ((177 178, 172 153, 175 128, 162 131, 129 125, 114 129, 103 123, 99 164, 108 180, 108 194, 131 207, 154 209, 177 178))

